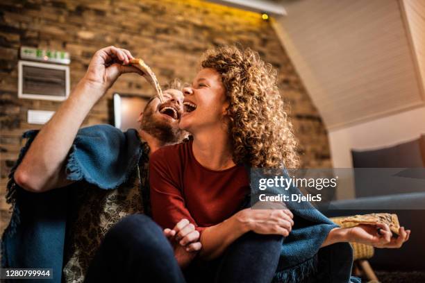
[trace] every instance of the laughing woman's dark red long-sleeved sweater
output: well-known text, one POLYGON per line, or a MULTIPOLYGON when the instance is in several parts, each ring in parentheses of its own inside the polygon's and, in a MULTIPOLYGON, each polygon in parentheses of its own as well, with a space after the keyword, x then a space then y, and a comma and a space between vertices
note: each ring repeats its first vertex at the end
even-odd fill
POLYGON ((238 212, 249 193, 244 166, 223 171, 207 169, 194 158, 192 141, 153 153, 149 182, 153 220, 170 229, 186 218, 202 232, 238 212))

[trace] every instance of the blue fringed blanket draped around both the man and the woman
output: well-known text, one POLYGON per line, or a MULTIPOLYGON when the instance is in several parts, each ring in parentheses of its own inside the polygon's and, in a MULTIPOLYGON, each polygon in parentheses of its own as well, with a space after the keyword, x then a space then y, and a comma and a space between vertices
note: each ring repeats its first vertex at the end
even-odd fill
MULTIPOLYGON (((90 183, 100 189, 117 188, 138 164, 140 139, 135 130, 123 133, 108 125, 82 128, 66 164, 67 179, 77 182, 33 194, 20 188, 13 174, 37 133, 24 133, 28 140, 9 175, 6 200, 13 211, 1 238, 1 267, 52 268, 51 282, 61 282, 72 186, 90 183)), ((360 282, 350 277, 353 255, 349 243, 320 248, 329 231, 338 226, 313 207, 292 212, 295 225, 283 241, 274 282, 303 282, 312 275, 317 282, 360 282)))

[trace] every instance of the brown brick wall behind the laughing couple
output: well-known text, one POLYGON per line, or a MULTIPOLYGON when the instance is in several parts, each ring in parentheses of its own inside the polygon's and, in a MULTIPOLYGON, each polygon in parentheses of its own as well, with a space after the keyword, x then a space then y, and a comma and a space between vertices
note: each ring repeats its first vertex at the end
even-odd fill
MULTIPOLYGON (((59 105, 17 98, 17 60, 22 45, 68 51, 74 87, 94 51, 103 46, 113 44, 144 58, 158 80, 165 82, 174 77, 190 81, 203 51, 215 44, 240 42, 278 69, 279 87, 292 105, 303 165, 331 166, 322 119, 271 24, 256 13, 203 1, 174 0, 3 1, 0 11, 0 232, 8 222, 6 177, 22 146, 20 135, 40 128, 26 123, 26 112, 56 110, 59 105)), ((108 101, 113 92, 153 93, 140 76, 122 76, 94 106, 83 126, 110 121, 108 101)))

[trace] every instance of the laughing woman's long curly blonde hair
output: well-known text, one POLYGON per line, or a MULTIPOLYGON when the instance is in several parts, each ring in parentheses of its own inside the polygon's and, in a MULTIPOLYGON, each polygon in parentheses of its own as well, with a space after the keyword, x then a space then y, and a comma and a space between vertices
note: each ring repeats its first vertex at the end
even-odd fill
POLYGON ((201 67, 222 75, 233 162, 255 168, 297 168, 297 139, 272 65, 251 49, 222 46, 206 51, 201 67))

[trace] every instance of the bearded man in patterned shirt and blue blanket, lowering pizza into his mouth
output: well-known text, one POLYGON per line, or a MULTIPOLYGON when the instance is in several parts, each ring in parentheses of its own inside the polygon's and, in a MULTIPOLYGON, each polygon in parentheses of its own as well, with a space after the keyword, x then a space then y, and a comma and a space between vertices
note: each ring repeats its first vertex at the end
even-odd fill
MULTIPOLYGON (((163 103, 156 96, 149 100, 138 130, 79 129, 119 76, 146 76, 128 65, 131 59, 129 51, 115 46, 97 51, 51 120, 24 134, 28 141, 9 175, 13 214, 2 237, 3 268, 51 268, 53 282, 62 277, 83 282, 106 232, 126 216, 150 215, 149 155, 186 136, 178 128, 183 108, 178 81, 167 87, 163 103)), ((173 233, 184 229, 190 235, 189 224, 183 219, 173 233)), ((196 241, 181 246, 173 234, 165 234, 172 244, 167 252, 174 252, 180 266, 201 248, 196 241)), ((171 268, 180 272, 179 266, 171 268)))

